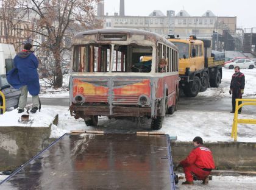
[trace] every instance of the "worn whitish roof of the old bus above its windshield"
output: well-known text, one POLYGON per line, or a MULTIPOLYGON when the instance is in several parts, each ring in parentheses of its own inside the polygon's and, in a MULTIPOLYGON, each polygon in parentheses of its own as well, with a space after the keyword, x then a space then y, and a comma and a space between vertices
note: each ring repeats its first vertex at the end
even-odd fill
POLYGON ((101 40, 100 39, 101 34, 112 35, 112 37, 113 37, 113 34, 115 34, 115 35, 123 34, 123 35, 127 36, 127 41, 128 41, 128 38, 131 38, 133 35, 135 35, 135 36, 141 35, 141 36, 143 36, 143 38, 138 39, 139 41, 147 40, 147 41, 151 41, 152 43, 157 43, 157 41, 162 41, 163 43, 168 44, 172 48, 177 49, 177 47, 174 46, 174 44, 170 43, 170 41, 166 40, 166 38, 158 35, 157 33, 148 32, 145 30, 126 29, 126 28, 98 29, 98 30, 88 30, 85 32, 80 32, 80 33, 77 33, 77 35, 74 37, 73 43, 74 44, 84 44, 85 41, 87 41, 87 39, 88 39, 88 38, 86 39, 87 35, 95 35, 95 36, 97 35, 97 37, 94 39, 95 43, 100 43, 100 41, 101 42, 104 41, 104 43, 106 43, 107 41, 108 41, 108 43, 109 43, 109 41, 126 41, 126 40, 122 40, 121 38, 120 38, 120 40, 116 40, 116 38, 115 38, 115 40, 113 40, 111 38, 109 38, 109 40, 108 39, 101 40), (79 40, 81 40, 80 43, 79 43, 79 40))

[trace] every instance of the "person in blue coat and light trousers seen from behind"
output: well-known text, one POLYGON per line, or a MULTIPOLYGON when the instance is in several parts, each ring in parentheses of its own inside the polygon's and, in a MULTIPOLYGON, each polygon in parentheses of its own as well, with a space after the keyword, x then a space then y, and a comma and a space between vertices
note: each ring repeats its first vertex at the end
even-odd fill
POLYGON ((23 113, 27 104, 27 92, 32 95, 32 109, 30 113, 36 113, 39 107, 39 77, 38 77, 38 59, 35 57, 32 44, 24 44, 23 51, 19 52, 13 62, 15 68, 7 73, 7 80, 13 88, 21 90, 18 113, 23 113))

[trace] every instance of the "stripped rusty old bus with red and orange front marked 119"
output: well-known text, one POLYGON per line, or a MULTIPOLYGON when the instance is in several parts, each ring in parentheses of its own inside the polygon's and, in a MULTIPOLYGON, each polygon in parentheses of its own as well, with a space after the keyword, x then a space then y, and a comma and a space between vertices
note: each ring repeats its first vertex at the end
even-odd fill
POLYGON ((71 116, 96 126, 98 116, 152 118, 162 127, 176 108, 178 50, 156 33, 133 29, 81 32, 73 41, 69 82, 71 116), (152 60, 143 62, 144 56, 152 60), (167 63, 161 71, 158 63, 167 63))

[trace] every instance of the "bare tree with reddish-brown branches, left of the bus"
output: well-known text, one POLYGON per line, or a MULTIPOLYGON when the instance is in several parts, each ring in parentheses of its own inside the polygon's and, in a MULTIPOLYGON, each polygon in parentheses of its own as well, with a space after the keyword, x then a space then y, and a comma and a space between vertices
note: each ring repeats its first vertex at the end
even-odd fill
MULTIPOLYGON (((101 27, 101 21, 95 17, 98 0, 17 0, 17 8, 23 10, 23 18, 31 21, 27 29, 32 33, 32 39, 40 35, 45 40, 38 43, 41 51, 50 51, 54 57, 55 79, 54 88, 62 86, 62 53, 68 47, 63 40, 74 33, 70 26, 80 25, 84 29, 101 27)), ((20 15, 21 16, 21 15, 20 15)))

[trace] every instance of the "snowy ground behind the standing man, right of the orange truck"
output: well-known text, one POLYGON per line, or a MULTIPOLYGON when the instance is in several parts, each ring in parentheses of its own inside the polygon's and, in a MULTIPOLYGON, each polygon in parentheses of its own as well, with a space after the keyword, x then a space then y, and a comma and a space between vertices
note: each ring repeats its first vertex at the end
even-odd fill
MULTIPOLYGON (((254 69, 241 69, 245 76, 245 87, 243 97, 254 97, 256 96, 256 68, 254 69)), ((197 96, 201 97, 232 97, 229 94, 229 86, 234 73, 233 69, 222 68, 222 80, 219 88, 208 88, 205 92, 199 93, 197 96)))

